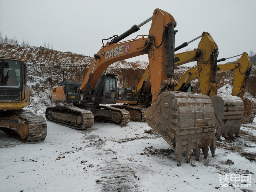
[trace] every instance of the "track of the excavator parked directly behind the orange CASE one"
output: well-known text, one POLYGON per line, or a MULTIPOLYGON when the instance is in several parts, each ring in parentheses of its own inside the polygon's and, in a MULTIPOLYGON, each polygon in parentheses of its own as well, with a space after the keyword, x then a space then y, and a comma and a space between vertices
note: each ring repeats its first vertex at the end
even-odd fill
POLYGON ((139 121, 144 122, 145 119, 145 111, 147 108, 133 105, 112 105, 114 108, 125 109, 129 111, 131 119, 130 121, 139 121))

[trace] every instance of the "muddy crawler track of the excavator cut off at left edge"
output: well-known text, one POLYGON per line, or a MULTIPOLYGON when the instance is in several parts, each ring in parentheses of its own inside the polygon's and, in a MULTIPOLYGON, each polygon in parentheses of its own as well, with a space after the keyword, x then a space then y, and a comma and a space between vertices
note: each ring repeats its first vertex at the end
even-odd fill
MULTIPOLYGON (((12 111, 5 111, 4 112, 8 116, 9 125, 14 124, 20 124, 22 127, 21 132, 26 132, 27 134, 19 134, 20 131, 19 128, 11 129, 10 126, 6 126, 4 128, 1 128, 2 131, 6 132, 8 135, 12 136, 14 139, 22 141, 22 142, 37 142, 37 141, 44 141, 47 134, 47 124, 43 117, 37 116, 33 114, 31 111, 27 110, 12 110, 12 111), (9 127, 9 128, 8 128, 9 127), (6 129, 7 128, 7 129, 6 129), (22 129, 28 129, 28 130, 22 130, 22 129), (18 132, 17 132, 18 130, 18 132), (22 137, 24 139, 22 139, 22 137)), ((6 117, 7 117, 6 116, 6 117)), ((4 119, 5 117, 1 117, 1 119, 4 119)), ((8 121, 7 120, 7 121, 8 121)))

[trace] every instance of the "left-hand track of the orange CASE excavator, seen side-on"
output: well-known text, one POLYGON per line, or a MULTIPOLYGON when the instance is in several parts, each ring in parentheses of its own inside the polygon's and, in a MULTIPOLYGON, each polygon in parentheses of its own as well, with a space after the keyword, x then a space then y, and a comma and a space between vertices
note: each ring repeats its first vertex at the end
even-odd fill
POLYGON ((45 117, 48 121, 72 129, 90 128, 94 123, 91 111, 75 106, 48 107, 45 111, 45 117))

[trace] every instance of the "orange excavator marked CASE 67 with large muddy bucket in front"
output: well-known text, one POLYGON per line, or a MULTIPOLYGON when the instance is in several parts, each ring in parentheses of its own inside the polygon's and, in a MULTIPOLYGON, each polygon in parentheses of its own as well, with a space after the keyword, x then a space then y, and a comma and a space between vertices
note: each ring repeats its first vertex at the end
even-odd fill
MULTIPOLYGON (((176 21, 171 14, 155 9, 152 17, 139 25, 132 26, 120 36, 113 36, 114 39, 103 45, 94 55, 89 73, 85 75, 82 83, 68 82, 63 78, 62 85, 53 88, 52 102, 72 103, 73 105, 47 108, 46 117, 73 128, 84 126, 84 122, 88 119, 91 120, 89 126, 92 126, 93 118, 118 123, 115 117, 113 118, 113 111, 116 109, 99 105, 114 103, 118 96, 115 78, 107 79, 104 74, 101 74, 105 71, 107 75, 108 66, 116 61, 148 54, 151 94, 152 100, 155 101, 145 111, 149 126, 155 130, 158 128, 162 130, 161 136, 175 149, 178 165, 181 164, 182 152, 185 152, 187 162, 190 162, 191 150, 194 150, 198 160, 200 148, 203 150, 204 157, 207 158, 210 146, 212 156, 214 156, 215 116, 210 97, 198 93, 172 92, 177 84, 172 80, 174 36, 177 32, 174 30, 175 27, 176 21), (151 20, 148 35, 120 42, 151 20), (161 117, 158 118, 155 112, 161 114, 161 117), (83 115, 86 113, 92 116, 87 118, 83 115)), ((128 116, 129 112, 124 111, 128 116)), ((118 114, 120 118, 116 119, 122 122, 124 115, 118 114)), ((129 121, 130 115, 127 119, 129 121)), ((84 128, 89 126, 84 126, 84 128)))

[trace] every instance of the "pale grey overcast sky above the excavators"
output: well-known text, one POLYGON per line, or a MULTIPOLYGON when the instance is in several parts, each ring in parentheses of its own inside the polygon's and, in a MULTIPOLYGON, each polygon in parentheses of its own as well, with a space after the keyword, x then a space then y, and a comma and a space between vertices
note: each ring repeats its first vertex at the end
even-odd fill
MULTIPOLYGON (((103 38, 121 35, 156 8, 177 21, 175 47, 206 31, 219 47, 219 59, 256 52, 256 0, 0 0, 0 30, 19 44, 23 39, 38 47, 46 42, 54 50, 93 57, 103 38)), ((150 25, 125 40, 148 35, 150 25)), ((179 52, 197 48, 199 41, 179 52)), ((137 60, 148 62, 148 56, 128 61, 137 60)))

